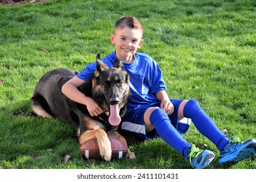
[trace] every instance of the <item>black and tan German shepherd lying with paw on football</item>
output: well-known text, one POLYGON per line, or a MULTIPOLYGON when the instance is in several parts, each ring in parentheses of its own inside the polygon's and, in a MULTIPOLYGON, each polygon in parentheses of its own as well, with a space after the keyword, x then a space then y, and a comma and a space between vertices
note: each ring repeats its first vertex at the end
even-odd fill
MULTIPOLYGON (((107 136, 118 138, 127 146, 126 139, 117 132, 122 116, 127 108, 129 90, 129 75, 124 71, 121 61, 115 60, 115 65, 108 68, 96 56, 96 71, 89 81, 85 81, 78 90, 91 97, 102 107, 104 113, 91 116, 87 107, 68 99, 61 92, 61 88, 78 72, 65 68, 57 68, 44 74, 38 81, 31 106, 33 111, 44 118, 58 118, 71 125, 79 136, 80 145, 91 138, 96 138, 100 149, 100 156, 105 161, 111 159, 111 145, 107 136)), ((135 155, 128 149, 128 157, 135 159, 135 155)))

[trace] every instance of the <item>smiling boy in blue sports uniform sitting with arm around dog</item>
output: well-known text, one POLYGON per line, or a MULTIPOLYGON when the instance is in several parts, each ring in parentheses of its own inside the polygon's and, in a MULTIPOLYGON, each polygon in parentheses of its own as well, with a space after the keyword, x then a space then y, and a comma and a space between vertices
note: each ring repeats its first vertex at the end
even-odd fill
MULTIPOLYGON (((181 153, 193 168, 206 168, 214 159, 214 153, 200 150, 190 144, 180 134, 186 133, 189 125, 183 127, 178 121, 190 118, 195 127, 220 149, 220 163, 238 162, 255 154, 256 140, 246 142, 238 138, 229 140, 214 124, 197 101, 169 99, 165 90, 162 72, 158 64, 149 55, 137 53, 143 44, 143 26, 133 16, 123 16, 115 23, 110 34, 115 51, 102 61, 113 66, 115 59, 122 60, 126 72, 130 75, 128 110, 122 120, 121 129, 135 133, 144 139, 160 136, 169 146, 181 153)), ((76 77, 63 85, 62 92, 68 98, 87 105, 91 116, 104 112, 91 98, 83 95, 77 87, 90 79, 96 69, 96 63, 89 64, 76 77)))

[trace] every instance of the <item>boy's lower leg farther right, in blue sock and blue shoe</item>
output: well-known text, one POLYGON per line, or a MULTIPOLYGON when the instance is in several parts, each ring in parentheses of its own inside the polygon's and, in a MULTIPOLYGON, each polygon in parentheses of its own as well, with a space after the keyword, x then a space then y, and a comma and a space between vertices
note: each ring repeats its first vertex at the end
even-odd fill
POLYGON ((194 99, 186 103, 183 111, 184 116, 191 118, 195 127, 220 149, 220 163, 239 162, 255 155, 255 139, 249 139, 246 142, 240 142, 238 138, 229 140, 194 99))

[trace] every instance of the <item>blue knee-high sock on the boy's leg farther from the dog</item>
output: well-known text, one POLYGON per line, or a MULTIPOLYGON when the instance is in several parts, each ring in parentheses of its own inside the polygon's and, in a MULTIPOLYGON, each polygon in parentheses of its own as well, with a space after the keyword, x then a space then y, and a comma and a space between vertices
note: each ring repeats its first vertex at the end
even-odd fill
POLYGON ((210 139, 220 150, 223 150, 229 139, 215 125, 212 119, 205 114, 195 99, 189 100, 184 106, 183 114, 190 118, 200 133, 210 139))

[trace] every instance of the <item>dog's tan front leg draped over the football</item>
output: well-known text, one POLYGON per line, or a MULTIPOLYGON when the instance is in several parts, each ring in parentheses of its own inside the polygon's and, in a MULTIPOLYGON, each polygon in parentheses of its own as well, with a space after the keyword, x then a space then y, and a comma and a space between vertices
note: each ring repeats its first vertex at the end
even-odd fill
POLYGON ((107 133, 103 129, 94 129, 90 131, 85 131, 80 136, 80 145, 87 142, 91 138, 96 138, 98 142, 98 148, 100 149, 100 156, 105 161, 110 161, 111 159, 111 143, 109 138, 107 138, 107 133))

